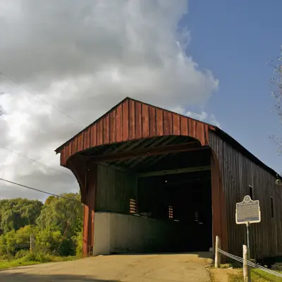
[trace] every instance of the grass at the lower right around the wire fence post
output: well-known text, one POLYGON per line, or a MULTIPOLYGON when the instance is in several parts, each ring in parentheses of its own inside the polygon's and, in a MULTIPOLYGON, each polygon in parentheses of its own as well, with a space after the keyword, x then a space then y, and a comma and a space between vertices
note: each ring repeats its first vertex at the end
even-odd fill
MULTIPOLYGON (((282 271, 276 271, 282 273, 282 271)), ((268 274, 260 269, 252 269, 252 282, 281 282, 282 278, 268 274)), ((240 271, 240 274, 231 274, 228 276, 229 282, 243 282, 243 271, 240 271)))

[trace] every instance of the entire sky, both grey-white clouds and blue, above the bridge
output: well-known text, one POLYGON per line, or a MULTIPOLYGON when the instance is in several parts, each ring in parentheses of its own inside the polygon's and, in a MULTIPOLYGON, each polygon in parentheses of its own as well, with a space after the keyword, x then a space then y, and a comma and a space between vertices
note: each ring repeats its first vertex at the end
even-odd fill
MULTIPOLYGON (((281 8, 278 0, 0 0, 0 178, 77 192, 54 149, 128 96, 213 123, 281 172, 266 65, 280 53, 281 8)), ((0 197, 46 195, 1 182, 0 197)))

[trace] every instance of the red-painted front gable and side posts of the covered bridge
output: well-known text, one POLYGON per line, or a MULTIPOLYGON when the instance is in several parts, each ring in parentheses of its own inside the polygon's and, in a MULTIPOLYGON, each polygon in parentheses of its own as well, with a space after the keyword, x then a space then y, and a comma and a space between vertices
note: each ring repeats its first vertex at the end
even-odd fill
MULTIPOLYGON (((134 99, 124 99, 104 114, 85 130, 56 149, 61 153, 61 166, 73 171, 78 179, 85 204, 83 227, 83 253, 89 255, 94 244, 94 203, 97 183, 97 167, 87 166, 87 159, 77 152, 90 147, 112 144, 127 140, 151 138, 163 135, 184 135, 195 138, 202 146, 209 145, 209 129, 207 123, 196 121, 187 116, 160 109, 134 99), (92 169, 89 173, 87 169, 92 169)), ((212 158, 212 202, 214 206, 214 235, 220 235, 222 245, 227 244, 224 197, 221 187, 219 166, 212 158)))

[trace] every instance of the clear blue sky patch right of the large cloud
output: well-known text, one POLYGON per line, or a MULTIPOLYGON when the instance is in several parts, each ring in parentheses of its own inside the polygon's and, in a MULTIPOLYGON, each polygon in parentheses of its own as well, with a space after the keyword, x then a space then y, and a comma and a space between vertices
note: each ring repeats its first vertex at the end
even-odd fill
POLYGON ((189 2, 191 42, 188 54, 200 68, 219 79, 219 91, 205 110, 214 114, 221 128, 277 172, 282 157, 269 135, 282 137, 282 125, 273 112, 274 98, 268 80, 282 44, 282 1, 189 2))

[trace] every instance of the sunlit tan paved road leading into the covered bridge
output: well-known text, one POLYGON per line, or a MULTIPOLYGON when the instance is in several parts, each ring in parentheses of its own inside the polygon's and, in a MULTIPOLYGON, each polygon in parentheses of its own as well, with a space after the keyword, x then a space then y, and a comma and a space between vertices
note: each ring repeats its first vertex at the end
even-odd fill
POLYGON ((209 254, 111 255, 0 271, 0 281, 208 282, 209 254))

